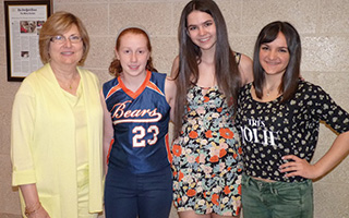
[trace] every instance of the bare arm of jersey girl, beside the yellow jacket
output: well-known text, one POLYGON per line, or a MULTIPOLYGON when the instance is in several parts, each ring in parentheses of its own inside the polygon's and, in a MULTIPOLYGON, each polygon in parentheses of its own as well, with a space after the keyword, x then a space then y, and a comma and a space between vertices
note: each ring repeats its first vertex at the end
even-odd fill
POLYGON ((113 137, 113 128, 111 122, 111 114, 107 109, 106 99, 103 95, 103 90, 100 90, 100 101, 103 106, 103 112, 104 112, 104 128, 103 128, 103 162, 104 162, 104 169, 105 173, 107 174, 108 171, 108 165, 107 165, 107 156, 109 153, 110 142, 113 137))

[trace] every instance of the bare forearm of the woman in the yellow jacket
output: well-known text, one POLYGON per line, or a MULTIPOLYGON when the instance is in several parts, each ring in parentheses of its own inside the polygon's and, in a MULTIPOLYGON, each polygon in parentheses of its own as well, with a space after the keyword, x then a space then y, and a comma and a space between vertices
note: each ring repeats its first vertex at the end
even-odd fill
POLYGON ((28 218, 49 218, 45 208, 40 205, 36 184, 20 185, 24 202, 25 210, 28 218))

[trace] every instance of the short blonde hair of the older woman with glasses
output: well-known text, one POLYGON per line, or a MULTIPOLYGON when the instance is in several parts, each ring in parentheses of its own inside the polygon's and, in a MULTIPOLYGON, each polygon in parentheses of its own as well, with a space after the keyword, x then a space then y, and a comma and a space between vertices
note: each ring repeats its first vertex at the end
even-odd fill
POLYGON ((83 65, 89 50, 89 37, 82 21, 72 13, 59 11, 53 13, 43 25, 39 35, 39 51, 43 63, 50 60, 49 46, 53 36, 63 34, 69 31, 72 25, 76 25, 83 40, 84 51, 77 65, 83 65))

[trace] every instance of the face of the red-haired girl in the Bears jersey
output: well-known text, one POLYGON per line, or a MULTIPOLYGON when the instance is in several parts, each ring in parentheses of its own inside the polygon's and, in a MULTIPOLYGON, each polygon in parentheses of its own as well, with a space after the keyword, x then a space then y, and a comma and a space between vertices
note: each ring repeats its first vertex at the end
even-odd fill
POLYGON ((123 76, 145 76, 146 64, 151 57, 147 38, 142 34, 127 33, 120 37, 120 46, 116 50, 120 60, 123 76))

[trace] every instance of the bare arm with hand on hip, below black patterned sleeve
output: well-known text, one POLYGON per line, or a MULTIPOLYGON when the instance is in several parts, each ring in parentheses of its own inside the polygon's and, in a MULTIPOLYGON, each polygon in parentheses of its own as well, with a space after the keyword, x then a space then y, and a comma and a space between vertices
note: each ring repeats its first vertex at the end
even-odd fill
POLYGON ((316 179, 326 174, 335 168, 349 153, 349 131, 339 134, 328 152, 314 165, 294 155, 288 155, 282 159, 294 161, 280 166, 281 172, 287 172, 286 177, 300 175, 308 179, 316 179))

